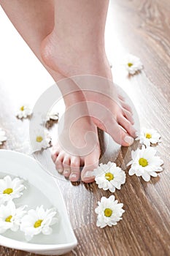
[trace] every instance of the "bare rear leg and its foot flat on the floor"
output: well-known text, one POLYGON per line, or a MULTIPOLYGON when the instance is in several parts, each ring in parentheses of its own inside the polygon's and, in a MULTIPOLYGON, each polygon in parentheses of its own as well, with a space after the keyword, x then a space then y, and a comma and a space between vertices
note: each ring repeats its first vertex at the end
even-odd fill
MULTIPOLYGON (((29 0, 29 1, 23 1, 23 0, 13 0, 1 1, 1 7, 4 9, 4 11, 7 13, 9 19, 14 24, 15 28, 19 31, 23 39, 27 42, 31 50, 35 53, 35 55, 38 57, 40 61, 42 61, 42 57, 40 55, 40 45, 42 43, 42 40, 47 37, 48 34, 50 34, 51 31, 53 31, 54 26, 54 8, 53 8, 53 1, 49 0, 29 0)), ((42 61, 42 64, 45 65, 44 61, 42 61)), ((55 81, 63 79, 63 75, 60 74, 58 71, 53 71, 50 69, 50 67, 47 67, 45 65, 47 70, 50 72, 50 75, 53 76, 55 81)), ((68 81, 66 81, 67 83, 68 81)), ((77 90, 77 86, 69 80, 69 86, 72 87, 72 90, 77 90)), ((61 83, 58 83, 60 86, 61 83)), ((60 87, 61 92, 65 95, 69 91, 66 91, 66 89, 69 88, 68 84, 66 84, 66 87, 62 86, 60 87)), ((67 95, 64 97, 64 101, 66 103, 66 109, 72 107, 72 105, 75 105, 79 102, 85 102, 85 97, 81 93, 81 91, 74 92, 72 94, 67 95)), ((82 107, 77 109, 77 116, 78 114, 82 116, 84 113, 88 113, 88 110, 86 110, 86 104, 82 104, 82 107)), ((76 108, 74 108, 76 111, 76 108)), ((76 115, 76 113, 74 113, 76 115)), ((70 115, 68 111, 66 111, 66 124, 68 124, 70 115)), ((74 121, 74 120, 73 120, 74 121)), ((72 120, 70 121, 72 122, 72 120)), ((97 136, 97 130, 95 125, 90 120, 89 116, 83 116, 80 118, 77 122, 74 123, 72 130, 68 132, 67 129, 63 130, 63 137, 66 138, 66 136, 70 136, 77 147, 83 147, 85 144, 85 135, 88 132, 93 132, 93 135, 96 135, 95 141, 94 137, 92 140, 89 140, 90 143, 96 144, 96 148, 93 152, 90 152, 85 157, 80 157, 80 154, 77 150, 77 156, 73 156, 72 154, 66 154, 66 152, 63 150, 63 148, 60 147, 60 145, 55 146, 55 154, 53 154, 53 160, 55 162, 55 165, 57 167, 57 170, 59 172, 63 172, 64 176, 69 177, 71 181, 77 181, 80 178, 80 165, 85 165, 83 174, 85 176, 85 173, 87 173, 87 170, 93 170, 94 167, 98 165, 98 159, 100 156, 100 148, 98 143, 98 136, 97 136), (77 144, 77 137, 79 138, 79 144, 77 144), (56 154, 58 152, 58 154, 56 154)), ((89 145, 91 148, 91 146, 89 145)), ((73 148, 75 151, 75 148, 73 148)), ((83 176, 83 177, 84 177, 83 176)), ((93 178, 91 177, 85 177, 83 178, 85 182, 93 181, 93 178)))

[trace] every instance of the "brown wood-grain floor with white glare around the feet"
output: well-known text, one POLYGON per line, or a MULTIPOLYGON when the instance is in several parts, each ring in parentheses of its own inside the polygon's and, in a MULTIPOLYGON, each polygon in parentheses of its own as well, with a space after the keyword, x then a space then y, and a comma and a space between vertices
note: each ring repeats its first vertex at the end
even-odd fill
MULTIPOLYGON (((148 183, 127 175, 125 185, 115 192, 117 200, 124 204, 123 220, 115 227, 104 229, 96 227, 94 208, 101 196, 109 197, 111 193, 98 189, 96 184, 58 181, 62 184, 61 192, 78 240, 77 248, 66 256, 170 255, 169 13, 169 0, 114 0, 110 4, 106 40, 114 79, 134 102, 142 127, 153 127, 161 133, 158 154, 164 160, 164 170, 148 183), (141 74, 133 78, 125 75, 120 64, 124 53, 133 53, 142 59, 144 71, 141 74)), ((16 77, 14 82, 17 83, 16 77)), ((28 122, 18 125, 18 120, 12 116, 10 110, 15 97, 7 94, 12 85, 8 86, 4 88, 0 83, 0 127, 7 131, 10 138, 1 148, 27 153, 28 144, 23 140, 28 140, 28 122), (11 133, 13 136, 10 136, 11 133)), ((125 152, 126 148, 121 148, 117 163, 123 162, 125 152)), ((109 159, 112 159, 111 151, 104 161, 109 159)), ((128 173, 128 169, 125 171, 128 173)), ((1 247, 0 255, 31 254, 1 247)))

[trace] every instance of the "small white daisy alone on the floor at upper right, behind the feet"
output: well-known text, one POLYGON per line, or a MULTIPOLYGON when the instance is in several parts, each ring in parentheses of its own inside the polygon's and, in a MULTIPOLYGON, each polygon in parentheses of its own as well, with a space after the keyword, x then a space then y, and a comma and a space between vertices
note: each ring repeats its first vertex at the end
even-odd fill
POLYGON ((143 64, 138 57, 128 54, 125 58, 125 68, 129 74, 134 75, 136 72, 142 70, 143 64))

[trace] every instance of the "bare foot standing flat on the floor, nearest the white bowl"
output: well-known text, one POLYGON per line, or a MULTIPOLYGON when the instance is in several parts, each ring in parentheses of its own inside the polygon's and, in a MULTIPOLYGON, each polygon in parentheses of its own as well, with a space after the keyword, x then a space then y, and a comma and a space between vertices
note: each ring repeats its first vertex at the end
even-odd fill
POLYGON ((88 114, 83 95, 74 92, 65 97, 66 111, 58 124, 58 143, 52 159, 59 173, 70 181, 94 181, 92 171, 98 166, 100 146, 97 128, 88 114), (84 166, 80 173, 80 166, 84 166))

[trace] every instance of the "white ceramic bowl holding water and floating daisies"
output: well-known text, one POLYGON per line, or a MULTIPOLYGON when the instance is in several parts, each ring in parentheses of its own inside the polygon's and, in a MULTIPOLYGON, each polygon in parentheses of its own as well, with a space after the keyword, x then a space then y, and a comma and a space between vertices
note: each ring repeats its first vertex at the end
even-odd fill
POLYGON ((40 255, 62 255, 77 246, 77 238, 74 236, 55 178, 47 174, 33 158, 15 151, 0 150, 0 178, 7 174, 25 180, 27 189, 22 197, 15 199, 17 206, 55 206, 58 208, 60 221, 59 224, 53 225, 53 233, 50 236, 39 234, 30 242, 26 242, 21 231, 7 230, 0 236, 0 245, 40 255))

